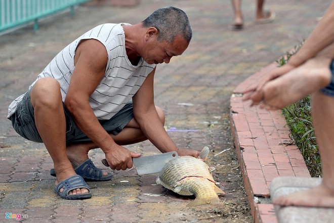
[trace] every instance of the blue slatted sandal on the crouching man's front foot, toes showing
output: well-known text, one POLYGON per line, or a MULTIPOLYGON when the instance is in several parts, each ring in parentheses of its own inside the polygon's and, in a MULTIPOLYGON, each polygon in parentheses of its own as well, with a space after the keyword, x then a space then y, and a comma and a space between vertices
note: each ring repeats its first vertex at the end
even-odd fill
POLYGON ((55 193, 58 194, 63 199, 68 200, 75 200, 75 199, 87 199, 91 198, 92 194, 90 192, 90 189, 85 182, 84 178, 82 178, 79 175, 70 176, 67 179, 61 181, 58 183, 58 185, 55 187, 55 193), (60 192, 60 189, 64 189, 62 192, 60 192), (74 189, 77 188, 86 188, 89 193, 88 194, 74 194, 69 195, 68 193, 74 189))

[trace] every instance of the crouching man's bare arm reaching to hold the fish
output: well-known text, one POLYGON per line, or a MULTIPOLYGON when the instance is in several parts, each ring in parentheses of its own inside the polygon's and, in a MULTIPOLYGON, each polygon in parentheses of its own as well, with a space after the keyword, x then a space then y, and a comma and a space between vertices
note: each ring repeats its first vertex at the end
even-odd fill
POLYGON ((134 117, 145 136, 162 153, 177 151, 180 156, 198 157, 195 150, 179 150, 166 133, 154 105, 153 79, 155 68, 147 76, 145 82, 133 97, 134 117))

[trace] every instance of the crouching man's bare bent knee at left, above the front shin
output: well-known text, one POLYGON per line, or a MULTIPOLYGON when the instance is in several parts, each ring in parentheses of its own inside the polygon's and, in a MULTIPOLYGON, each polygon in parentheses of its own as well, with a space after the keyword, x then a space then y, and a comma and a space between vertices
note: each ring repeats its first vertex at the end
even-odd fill
POLYGON ((35 107, 36 103, 49 107, 56 104, 58 106, 62 102, 59 82, 53 78, 39 79, 32 86, 30 100, 33 107, 35 107))

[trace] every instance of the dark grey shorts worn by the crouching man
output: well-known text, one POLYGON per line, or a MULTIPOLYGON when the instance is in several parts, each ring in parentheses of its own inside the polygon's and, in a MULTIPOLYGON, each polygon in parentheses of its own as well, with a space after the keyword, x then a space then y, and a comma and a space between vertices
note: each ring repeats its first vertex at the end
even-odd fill
MULTIPOLYGON (((92 141, 74 123, 64 103, 63 107, 66 117, 66 142, 92 141)), ((99 120, 99 122, 108 133, 117 135, 133 118, 133 104, 129 102, 110 120, 99 120)), ((16 112, 9 120, 12 121, 14 130, 22 137, 34 142, 43 142, 36 128, 33 107, 30 101, 30 90, 25 93, 22 101, 17 105, 16 112)))

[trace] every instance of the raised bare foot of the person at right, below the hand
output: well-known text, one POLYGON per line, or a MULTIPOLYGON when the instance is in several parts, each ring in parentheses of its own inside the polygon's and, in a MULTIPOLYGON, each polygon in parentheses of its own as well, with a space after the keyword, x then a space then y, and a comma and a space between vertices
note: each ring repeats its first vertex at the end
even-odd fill
POLYGON ((326 87, 331 81, 330 59, 313 58, 263 87, 268 110, 280 109, 326 87))

